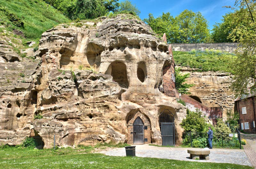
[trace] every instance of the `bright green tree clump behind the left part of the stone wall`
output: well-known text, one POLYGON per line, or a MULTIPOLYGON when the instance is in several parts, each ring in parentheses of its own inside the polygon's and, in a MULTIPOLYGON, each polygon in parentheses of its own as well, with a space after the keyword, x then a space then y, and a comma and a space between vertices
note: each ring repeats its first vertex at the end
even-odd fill
POLYGON ((200 12, 184 10, 175 18, 169 12, 158 18, 149 14, 143 21, 147 22, 159 37, 166 33, 168 43, 203 43, 210 39, 208 22, 200 12))

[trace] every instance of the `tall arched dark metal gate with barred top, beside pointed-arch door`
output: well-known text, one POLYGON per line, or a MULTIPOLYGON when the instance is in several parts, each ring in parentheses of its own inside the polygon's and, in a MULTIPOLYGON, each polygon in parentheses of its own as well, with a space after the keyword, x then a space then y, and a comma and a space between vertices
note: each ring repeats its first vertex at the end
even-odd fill
POLYGON ((175 145, 174 116, 169 110, 164 110, 159 115, 159 126, 163 145, 175 145))

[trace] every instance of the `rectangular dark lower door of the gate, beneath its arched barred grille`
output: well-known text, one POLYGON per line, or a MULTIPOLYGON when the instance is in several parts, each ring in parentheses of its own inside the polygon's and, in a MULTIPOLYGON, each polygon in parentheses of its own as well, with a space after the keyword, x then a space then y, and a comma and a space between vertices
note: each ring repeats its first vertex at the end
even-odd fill
POLYGON ((174 123, 161 123, 163 145, 175 145, 174 123))

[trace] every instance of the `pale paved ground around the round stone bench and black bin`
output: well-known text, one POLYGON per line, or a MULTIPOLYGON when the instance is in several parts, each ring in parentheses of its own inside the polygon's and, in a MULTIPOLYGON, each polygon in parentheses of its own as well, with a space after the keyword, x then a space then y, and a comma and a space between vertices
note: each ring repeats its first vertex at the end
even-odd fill
MULTIPOLYGON (((251 165, 244 150, 240 149, 211 149, 210 160, 193 160, 189 158, 188 148, 178 147, 156 147, 147 144, 136 145, 137 157, 167 158, 183 161, 233 163, 240 165, 251 165)), ((109 156, 126 156, 125 148, 115 148, 100 153, 109 156)))

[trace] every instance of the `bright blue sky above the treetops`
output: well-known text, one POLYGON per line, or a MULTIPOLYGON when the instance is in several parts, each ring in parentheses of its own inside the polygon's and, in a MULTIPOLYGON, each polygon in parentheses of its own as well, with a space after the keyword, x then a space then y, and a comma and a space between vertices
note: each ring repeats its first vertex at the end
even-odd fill
MULTIPOLYGON (((119 0, 120 2, 123 0, 119 0)), ((141 11, 140 18, 148 18, 148 13, 152 13, 156 18, 162 13, 170 12, 172 16, 179 15, 185 9, 193 12, 200 11, 209 22, 209 28, 215 22, 220 23, 222 16, 230 12, 230 8, 222 6, 233 6, 235 0, 130 0, 141 11)))

